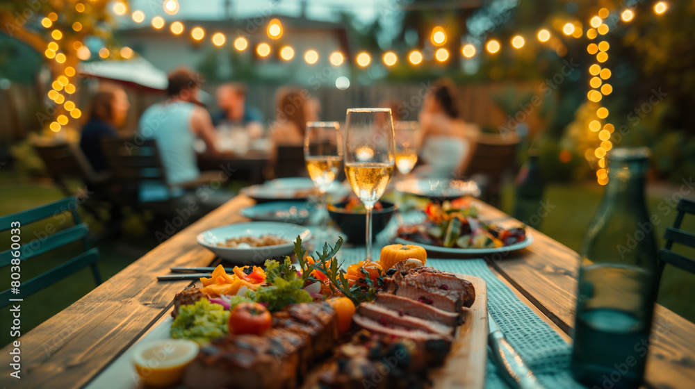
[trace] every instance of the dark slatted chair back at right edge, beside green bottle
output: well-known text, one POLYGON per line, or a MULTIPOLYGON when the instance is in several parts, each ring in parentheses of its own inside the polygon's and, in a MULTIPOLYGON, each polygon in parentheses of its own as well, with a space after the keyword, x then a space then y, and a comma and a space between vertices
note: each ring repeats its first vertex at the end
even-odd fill
POLYGON ((661 279, 661 275, 667 263, 695 274, 695 259, 671 251, 673 243, 695 248, 695 234, 680 229, 680 224, 682 224, 683 217, 686 213, 695 215, 695 201, 680 199, 676 210, 678 211, 676 221, 673 222, 673 227, 667 227, 666 233, 664 233, 666 245, 659 251, 659 279, 661 279))

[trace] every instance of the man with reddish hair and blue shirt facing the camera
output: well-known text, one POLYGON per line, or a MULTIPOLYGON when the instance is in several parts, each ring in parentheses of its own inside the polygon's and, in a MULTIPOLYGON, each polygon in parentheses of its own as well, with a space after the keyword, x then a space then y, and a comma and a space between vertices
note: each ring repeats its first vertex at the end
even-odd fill
POLYGON ((246 88, 243 85, 220 85, 215 94, 220 107, 220 112, 213 117, 215 127, 243 127, 250 139, 263 136, 263 114, 258 108, 246 104, 246 88))

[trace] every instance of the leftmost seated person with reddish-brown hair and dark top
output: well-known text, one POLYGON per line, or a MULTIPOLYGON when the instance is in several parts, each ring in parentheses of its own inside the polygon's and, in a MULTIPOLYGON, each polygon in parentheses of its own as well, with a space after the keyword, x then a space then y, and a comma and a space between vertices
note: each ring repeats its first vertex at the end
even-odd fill
POLYGON ((128 95, 117 85, 101 85, 92 97, 89 119, 80 135, 80 149, 95 172, 104 172, 107 168, 101 139, 118 137, 116 129, 124 124, 129 108, 128 95))

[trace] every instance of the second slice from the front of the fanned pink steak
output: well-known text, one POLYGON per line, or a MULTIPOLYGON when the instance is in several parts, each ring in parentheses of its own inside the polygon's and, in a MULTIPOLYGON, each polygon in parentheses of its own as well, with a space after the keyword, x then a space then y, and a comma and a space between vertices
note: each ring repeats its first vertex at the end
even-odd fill
POLYGON ((404 329, 434 333, 444 339, 452 340, 454 327, 446 326, 432 320, 400 314, 379 304, 362 303, 357 306, 357 313, 363 317, 375 320, 384 326, 398 326, 404 329))

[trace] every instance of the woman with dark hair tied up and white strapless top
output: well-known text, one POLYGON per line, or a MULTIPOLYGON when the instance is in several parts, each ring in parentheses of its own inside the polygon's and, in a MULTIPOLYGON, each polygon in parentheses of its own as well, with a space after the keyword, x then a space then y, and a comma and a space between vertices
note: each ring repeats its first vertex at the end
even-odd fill
POLYGON ((423 133, 420 156, 427 164, 419 173, 448 177, 464 172, 475 150, 477 131, 461 119, 452 81, 441 79, 434 83, 418 120, 423 133))

